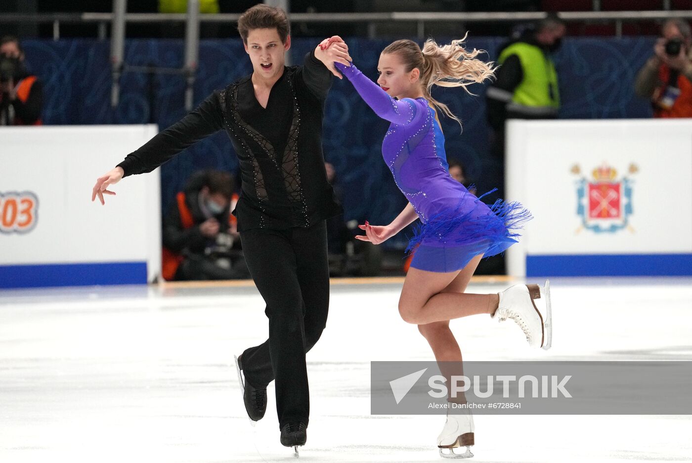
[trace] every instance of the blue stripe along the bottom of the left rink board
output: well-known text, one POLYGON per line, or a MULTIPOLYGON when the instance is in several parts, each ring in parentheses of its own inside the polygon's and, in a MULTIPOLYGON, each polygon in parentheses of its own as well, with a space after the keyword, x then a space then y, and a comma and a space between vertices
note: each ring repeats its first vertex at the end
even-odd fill
POLYGON ((146 283, 147 262, 0 265, 0 288, 146 283))

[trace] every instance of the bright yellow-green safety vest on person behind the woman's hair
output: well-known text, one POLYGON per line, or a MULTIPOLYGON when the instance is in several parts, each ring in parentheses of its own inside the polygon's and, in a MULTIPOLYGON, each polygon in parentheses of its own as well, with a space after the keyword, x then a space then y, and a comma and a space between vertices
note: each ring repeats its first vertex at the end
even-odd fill
POLYGON ((560 107, 558 75, 555 65, 536 45, 516 42, 504 48, 498 62, 502 64, 509 55, 517 55, 524 78, 516 89, 512 101, 529 107, 560 107), (551 92, 552 89, 552 92, 551 92), (552 97, 551 97, 552 93, 552 97))

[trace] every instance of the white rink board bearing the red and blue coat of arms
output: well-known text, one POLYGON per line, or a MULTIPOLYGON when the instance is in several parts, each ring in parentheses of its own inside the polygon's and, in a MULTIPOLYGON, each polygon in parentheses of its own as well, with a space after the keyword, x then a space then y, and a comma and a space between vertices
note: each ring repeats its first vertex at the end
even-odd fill
POLYGON ((531 256, 692 253, 692 119, 511 120, 506 159, 507 199, 534 214, 507 253, 512 275, 531 256), (594 186, 604 173, 619 204, 594 186))

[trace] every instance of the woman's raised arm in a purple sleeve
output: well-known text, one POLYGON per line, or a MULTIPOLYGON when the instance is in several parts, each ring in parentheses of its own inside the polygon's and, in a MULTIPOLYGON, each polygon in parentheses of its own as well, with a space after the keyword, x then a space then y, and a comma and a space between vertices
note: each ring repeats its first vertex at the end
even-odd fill
POLYGON ((394 100, 378 84, 365 77, 353 63, 351 66, 344 66, 338 62, 334 64, 336 69, 351 81, 358 94, 375 111, 375 114, 398 125, 406 125, 413 120, 413 116, 416 114, 413 100, 408 98, 400 101, 394 100))

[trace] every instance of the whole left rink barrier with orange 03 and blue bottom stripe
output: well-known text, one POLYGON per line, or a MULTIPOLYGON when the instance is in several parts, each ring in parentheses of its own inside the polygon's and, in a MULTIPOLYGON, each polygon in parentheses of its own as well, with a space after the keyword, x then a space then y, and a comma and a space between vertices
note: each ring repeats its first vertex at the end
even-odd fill
POLYGON ((146 284, 161 269, 158 170, 91 201, 156 125, 0 127, 0 288, 146 284), (40 168, 38 167, 40 166, 40 168))

